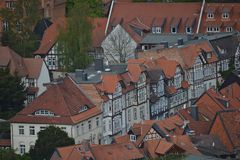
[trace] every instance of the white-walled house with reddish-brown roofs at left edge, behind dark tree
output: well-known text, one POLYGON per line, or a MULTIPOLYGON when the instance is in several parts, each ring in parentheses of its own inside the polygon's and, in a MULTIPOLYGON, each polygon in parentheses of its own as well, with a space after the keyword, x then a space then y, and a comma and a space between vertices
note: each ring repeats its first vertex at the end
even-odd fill
POLYGON ((49 72, 42 59, 23 58, 9 47, 0 47, 0 68, 8 68, 10 74, 21 78, 27 89, 27 101, 30 103, 34 98, 41 95, 50 82, 49 72))

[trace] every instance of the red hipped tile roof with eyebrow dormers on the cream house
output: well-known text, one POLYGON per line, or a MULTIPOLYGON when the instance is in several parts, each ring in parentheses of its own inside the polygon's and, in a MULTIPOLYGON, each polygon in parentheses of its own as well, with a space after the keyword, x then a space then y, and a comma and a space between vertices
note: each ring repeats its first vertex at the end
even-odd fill
POLYGON ((95 107, 77 85, 66 77, 62 82, 48 86, 43 94, 11 118, 11 122, 75 124, 100 113, 101 109, 95 107), (80 112, 83 106, 87 106, 88 110, 80 112), (34 115, 38 110, 48 110, 54 116, 34 115))

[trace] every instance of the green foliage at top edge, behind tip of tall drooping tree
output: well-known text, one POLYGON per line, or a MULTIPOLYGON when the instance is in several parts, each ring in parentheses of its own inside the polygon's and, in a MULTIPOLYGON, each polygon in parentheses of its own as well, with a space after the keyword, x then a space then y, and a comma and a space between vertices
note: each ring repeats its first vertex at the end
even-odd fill
MULTIPOLYGON (((89 6, 90 17, 102 17, 104 16, 103 2, 102 0, 78 0, 79 3, 85 3, 89 6)), ((67 0, 66 2, 66 14, 69 15, 70 11, 74 7, 75 0, 67 0)), ((78 2, 76 2, 78 3, 78 2)))

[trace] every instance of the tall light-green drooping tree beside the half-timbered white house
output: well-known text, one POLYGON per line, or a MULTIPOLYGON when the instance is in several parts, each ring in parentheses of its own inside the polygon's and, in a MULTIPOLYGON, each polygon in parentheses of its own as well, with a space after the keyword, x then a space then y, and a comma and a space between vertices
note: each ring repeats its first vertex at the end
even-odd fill
POLYGON ((59 63, 66 71, 86 68, 92 61, 88 55, 92 42, 92 24, 88 17, 89 6, 82 0, 75 0, 67 18, 67 26, 60 31, 57 50, 62 53, 59 63))

